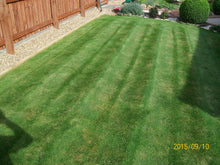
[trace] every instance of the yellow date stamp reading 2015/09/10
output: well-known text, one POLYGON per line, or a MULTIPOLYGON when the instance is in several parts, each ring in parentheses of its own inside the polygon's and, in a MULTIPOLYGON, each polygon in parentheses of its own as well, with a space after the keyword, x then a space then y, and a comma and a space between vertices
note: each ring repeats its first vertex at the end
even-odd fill
POLYGON ((181 143, 174 143, 173 144, 174 150, 209 150, 209 144, 198 144, 198 143, 192 143, 192 144, 181 144, 181 143))

